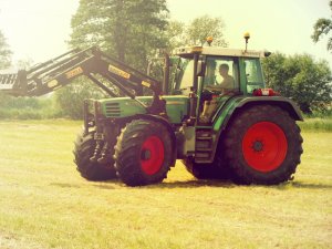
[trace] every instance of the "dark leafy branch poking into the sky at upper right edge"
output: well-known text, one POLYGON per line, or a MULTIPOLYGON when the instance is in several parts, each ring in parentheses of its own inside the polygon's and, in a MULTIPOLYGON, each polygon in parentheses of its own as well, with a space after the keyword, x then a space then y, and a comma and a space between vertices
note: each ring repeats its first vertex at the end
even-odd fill
MULTIPOLYGON (((332 0, 330 0, 330 9, 332 11, 332 0)), ((332 30, 332 19, 321 18, 313 25, 312 40, 317 43, 320 38, 328 35, 332 30)), ((332 51, 332 37, 328 40, 328 51, 332 51)))

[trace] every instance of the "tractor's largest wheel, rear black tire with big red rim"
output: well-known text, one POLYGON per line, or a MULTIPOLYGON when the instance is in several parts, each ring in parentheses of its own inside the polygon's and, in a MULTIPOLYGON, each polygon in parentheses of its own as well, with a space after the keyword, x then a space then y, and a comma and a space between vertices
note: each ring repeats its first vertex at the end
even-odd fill
POLYGON ((226 164, 238 184, 274 185, 292 179, 303 153, 295 121, 278 106, 235 114, 225 134, 226 164))

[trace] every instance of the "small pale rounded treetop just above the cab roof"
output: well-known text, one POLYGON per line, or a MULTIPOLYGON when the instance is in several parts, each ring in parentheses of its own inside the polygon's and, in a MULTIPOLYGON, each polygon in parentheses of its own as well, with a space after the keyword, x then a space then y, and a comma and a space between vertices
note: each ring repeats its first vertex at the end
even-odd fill
POLYGON ((224 38, 225 23, 221 18, 210 18, 203 15, 194 19, 188 25, 187 42, 189 44, 203 45, 207 37, 214 38, 214 44, 219 46, 227 46, 228 43, 224 38))

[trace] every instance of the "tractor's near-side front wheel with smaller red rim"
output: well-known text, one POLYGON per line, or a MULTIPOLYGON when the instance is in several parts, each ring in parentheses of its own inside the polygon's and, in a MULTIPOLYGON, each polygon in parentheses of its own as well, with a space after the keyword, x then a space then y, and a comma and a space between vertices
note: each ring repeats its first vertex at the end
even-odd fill
POLYGON ((128 186, 162 183, 173 162, 167 128, 154 121, 135 120, 122 129, 115 146, 118 178, 128 186))

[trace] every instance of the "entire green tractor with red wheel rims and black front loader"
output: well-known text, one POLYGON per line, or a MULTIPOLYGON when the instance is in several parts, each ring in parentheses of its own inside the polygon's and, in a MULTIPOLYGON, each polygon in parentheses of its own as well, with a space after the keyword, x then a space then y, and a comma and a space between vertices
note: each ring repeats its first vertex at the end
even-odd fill
POLYGON ((179 48, 165 56, 159 83, 90 48, 1 74, 0 90, 38 96, 85 75, 111 96, 84 102, 74 162, 89 180, 157 184, 180 159, 199 179, 274 185, 291 179, 300 164, 302 137, 295 122, 302 116, 291 100, 266 89, 260 59, 268 55, 179 48), (144 96, 144 89, 152 96, 144 96))

